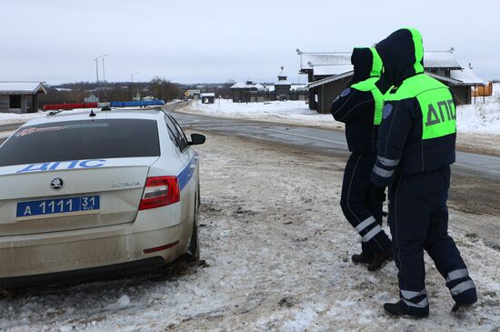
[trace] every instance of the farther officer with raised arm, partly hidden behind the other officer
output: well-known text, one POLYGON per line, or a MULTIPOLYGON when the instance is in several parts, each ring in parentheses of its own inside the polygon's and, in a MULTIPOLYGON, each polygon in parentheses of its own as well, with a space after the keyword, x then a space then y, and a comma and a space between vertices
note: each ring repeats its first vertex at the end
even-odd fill
POLYGON ((376 137, 382 119, 383 96, 375 86, 382 61, 375 48, 356 47, 351 57, 352 85, 332 105, 335 120, 345 123, 351 156, 345 166, 340 205, 345 218, 362 239, 362 252, 353 261, 375 271, 392 256, 391 241, 382 229, 382 202, 370 196, 370 174, 376 159, 376 137))

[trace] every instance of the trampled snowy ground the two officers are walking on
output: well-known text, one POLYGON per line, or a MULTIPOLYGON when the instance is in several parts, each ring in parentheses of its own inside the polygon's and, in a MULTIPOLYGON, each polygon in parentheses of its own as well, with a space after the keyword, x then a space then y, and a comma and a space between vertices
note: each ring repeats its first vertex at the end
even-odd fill
MULTIPOLYGON (((0 299, 5 331, 498 331, 500 252, 475 233, 480 214, 451 209, 450 228, 479 302, 452 315, 445 280, 426 259, 431 314, 387 317, 394 263, 355 266, 358 236, 339 207, 345 160, 208 135, 199 146, 204 267, 171 275, 32 289, 0 299), (224 148, 221 148, 224 146, 224 148)), ((461 201, 458 202, 460 204, 461 201)), ((495 216, 491 217, 496 219, 495 216)), ((496 219, 497 220, 497 219, 496 219)), ((495 230, 495 228, 493 229, 495 230)))

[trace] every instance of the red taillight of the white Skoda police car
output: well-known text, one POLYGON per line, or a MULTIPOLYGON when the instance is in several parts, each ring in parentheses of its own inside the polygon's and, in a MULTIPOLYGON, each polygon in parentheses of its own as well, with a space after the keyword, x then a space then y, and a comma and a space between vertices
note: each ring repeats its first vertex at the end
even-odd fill
POLYGON ((168 206, 181 199, 177 176, 154 176, 145 180, 145 192, 139 210, 168 206))

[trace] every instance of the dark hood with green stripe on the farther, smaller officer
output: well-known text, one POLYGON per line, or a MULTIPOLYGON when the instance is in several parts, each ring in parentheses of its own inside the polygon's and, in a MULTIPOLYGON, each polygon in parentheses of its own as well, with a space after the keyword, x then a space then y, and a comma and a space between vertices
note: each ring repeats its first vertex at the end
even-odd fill
POLYGON ((355 66, 353 84, 369 77, 379 77, 382 72, 382 60, 374 47, 355 47, 351 64, 355 66))

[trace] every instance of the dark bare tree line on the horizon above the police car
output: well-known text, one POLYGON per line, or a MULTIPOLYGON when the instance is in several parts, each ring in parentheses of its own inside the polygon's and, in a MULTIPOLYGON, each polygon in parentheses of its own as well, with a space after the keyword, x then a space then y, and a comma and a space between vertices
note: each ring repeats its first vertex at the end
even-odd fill
POLYGON ((183 97, 184 91, 175 83, 160 77, 150 82, 95 82, 65 83, 58 86, 48 86, 47 94, 39 96, 40 106, 47 104, 83 103, 85 97, 98 96, 99 101, 129 101, 137 93, 141 97, 152 96, 166 102, 183 97))

